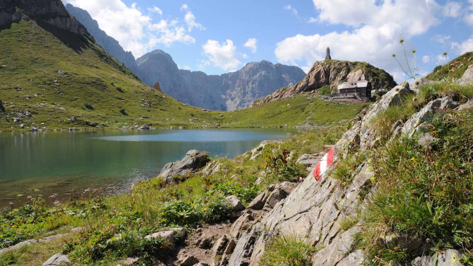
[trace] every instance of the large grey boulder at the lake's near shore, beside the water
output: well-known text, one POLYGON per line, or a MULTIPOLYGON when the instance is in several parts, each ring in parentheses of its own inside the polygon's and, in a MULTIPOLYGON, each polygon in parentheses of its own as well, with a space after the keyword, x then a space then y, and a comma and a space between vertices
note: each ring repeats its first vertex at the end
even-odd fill
POLYGON ((173 176, 184 176, 205 166, 209 161, 209 153, 205 151, 187 151, 180 161, 166 164, 158 177, 162 177, 166 183, 173 183, 173 176))

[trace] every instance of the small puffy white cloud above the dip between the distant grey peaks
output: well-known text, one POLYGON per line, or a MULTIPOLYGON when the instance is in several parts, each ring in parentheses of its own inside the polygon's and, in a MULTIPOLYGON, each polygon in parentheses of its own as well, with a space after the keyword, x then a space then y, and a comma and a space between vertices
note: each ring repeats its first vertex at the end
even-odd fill
POLYGON ((212 62, 214 66, 228 71, 237 68, 241 64, 236 59, 236 46, 233 45, 232 40, 227 40, 222 44, 219 44, 219 41, 208 40, 207 43, 202 45, 202 49, 203 54, 209 58, 209 61, 205 62, 206 65, 212 62))

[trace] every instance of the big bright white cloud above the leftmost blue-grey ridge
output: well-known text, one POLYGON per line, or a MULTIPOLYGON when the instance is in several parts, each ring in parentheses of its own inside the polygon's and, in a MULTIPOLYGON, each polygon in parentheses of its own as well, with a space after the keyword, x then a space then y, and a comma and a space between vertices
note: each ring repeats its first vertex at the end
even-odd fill
POLYGON ((152 50, 156 44, 171 45, 174 42, 194 44, 195 39, 179 25, 177 20, 161 19, 157 23, 151 17, 153 13, 162 15, 156 6, 149 9, 149 15, 143 14, 136 3, 127 6, 122 0, 62 0, 81 9, 86 9, 99 27, 116 39, 123 49, 131 51, 135 57, 152 50))

